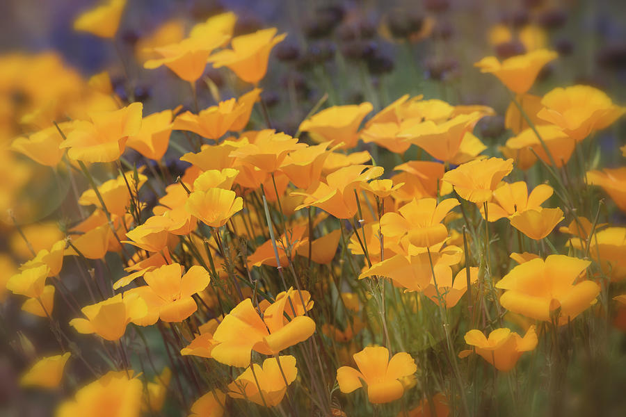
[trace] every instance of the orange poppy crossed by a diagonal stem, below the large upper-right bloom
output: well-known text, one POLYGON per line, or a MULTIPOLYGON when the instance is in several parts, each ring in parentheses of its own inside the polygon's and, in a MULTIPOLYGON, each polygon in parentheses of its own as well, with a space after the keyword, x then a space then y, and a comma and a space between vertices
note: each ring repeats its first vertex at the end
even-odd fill
MULTIPOLYGON (((574 152, 574 148, 576 147, 575 140, 570 138, 565 132, 561 131, 559 127, 552 126, 551 124, 536 126, 536 129, 539 132, 545 147, 547 147, 550 155, 552 155, 552 159, 554 159, 556 166, 562 167, 568 163, 570 156, 572 156, 572 152, 574 152)), ((547 165, 552 165, 552 161, 545 152, 543 145, 541 145, 535 131, 531 128, 526 129, 519 135, 508 139, 506 141, 506 147, 508 149, 513 149, 514 151, 517 149, 532 149, 531 152, 534 151, 534 153, 539 156, 541 161, 547 165)))

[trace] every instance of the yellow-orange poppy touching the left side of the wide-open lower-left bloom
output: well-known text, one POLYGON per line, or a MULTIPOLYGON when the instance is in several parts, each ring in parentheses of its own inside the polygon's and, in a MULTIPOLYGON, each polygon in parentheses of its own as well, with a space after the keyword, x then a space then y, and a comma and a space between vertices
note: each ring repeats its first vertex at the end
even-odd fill
POLYGON ((126 332, 131 321, 141 320, 147 313, 147 304, 136 295, 114 295, 81 309, 86 318, 74 318, 70 325, 82 334, 95 333, 107 341, 117 341, 126 332))

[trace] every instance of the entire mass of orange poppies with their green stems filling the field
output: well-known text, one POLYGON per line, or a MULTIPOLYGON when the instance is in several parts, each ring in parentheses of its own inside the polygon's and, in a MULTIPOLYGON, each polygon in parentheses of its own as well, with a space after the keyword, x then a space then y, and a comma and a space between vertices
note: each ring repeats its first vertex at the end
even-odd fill
MULTIPOLYGON (((126 6, 74 29, 113 42, 126 6)), ((45 322, 48 351, 24 332, 13 345, 32 361, 23 386, 63 387, 57 416, 469 416, 498 373, 549 361, 553 386, 563 343, 587 345, 607 318, 626 330, 626 164, 603 169, 593 142, 626 109, 588 85, 531 94, 556 52, 475 64, 510 93, 497 148, 474 134, 493 108, 422 95, 376 112, 323 97, 289 135, 262 95, 287 35, 234 35, 236 20, 137 42, 143 70, 184 81, 184 110, 146 115, 160 104, 54 54, 0 58, 0 78, 36 85, 1 151, 14 237, 0 295, 45 322), (32 161, 67 188, 28 224, 48 204, 24 197, 42 178, 32 161)), ((520 383, 538 384, 489 396, 520 401, 520 383)))

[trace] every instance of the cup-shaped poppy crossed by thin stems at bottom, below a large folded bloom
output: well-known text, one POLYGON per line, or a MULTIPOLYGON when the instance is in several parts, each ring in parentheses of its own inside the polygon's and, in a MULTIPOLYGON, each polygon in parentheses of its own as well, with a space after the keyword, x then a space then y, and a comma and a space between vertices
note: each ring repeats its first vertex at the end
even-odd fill
POLYGON ((251 368, 247 368, 228 384, 228 395, 232 398, 246 398, 266 407, 280 404, 287 385, 291 385, 298 375, 296 358, 291 355, 280 356, 278 359, 268 358, 263 361, 263 366, 256 363, 252 363, 252 366, 255 368, 254 373, 251 368))

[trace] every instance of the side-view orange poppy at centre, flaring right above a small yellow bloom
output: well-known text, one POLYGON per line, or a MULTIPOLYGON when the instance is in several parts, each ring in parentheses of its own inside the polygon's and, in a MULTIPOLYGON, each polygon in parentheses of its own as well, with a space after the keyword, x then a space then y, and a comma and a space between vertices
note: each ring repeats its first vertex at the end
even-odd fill
POLYGON ((315 206, 334 215, 339 219, 352 218, 358 211, 355 191, 358 194, 365 181, 380 177, 383 167, 367 167, 367 165, 351 165, 339 168, 328 174, 326 183, 320 182, 314 190, 306 193, 292 193, 305 196, 304 204, 296 210, 315 206))

